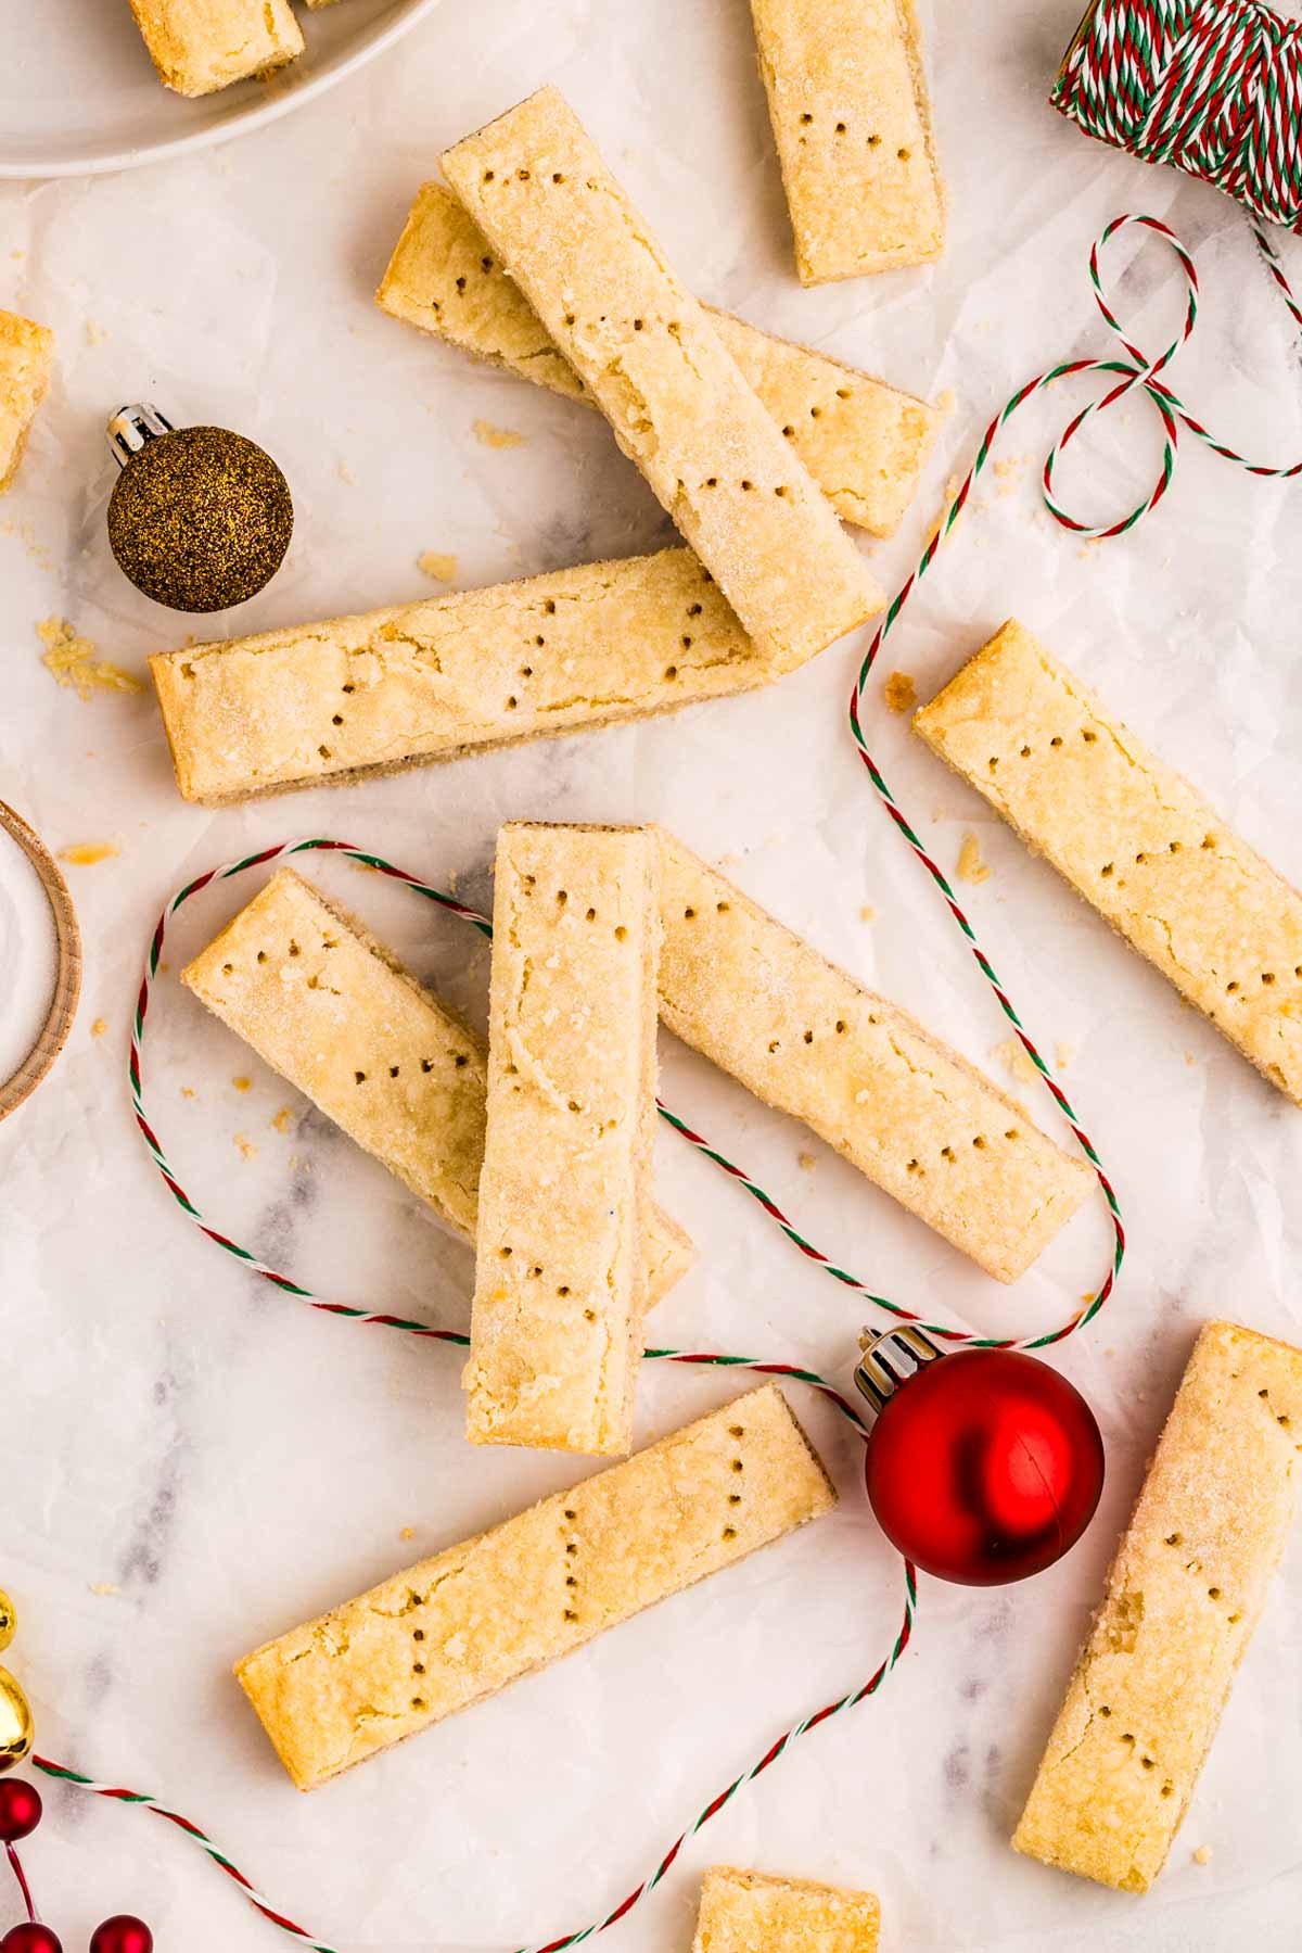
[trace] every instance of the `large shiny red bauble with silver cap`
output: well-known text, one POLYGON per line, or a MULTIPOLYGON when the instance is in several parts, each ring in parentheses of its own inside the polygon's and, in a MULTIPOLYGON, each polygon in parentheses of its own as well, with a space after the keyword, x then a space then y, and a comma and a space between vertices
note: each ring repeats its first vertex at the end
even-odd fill
POLYGON ((1052 1566, 1103 1490, 1089 1404, 1033 1355, 939 1355, 906 1334, 929 1350, 921 1367, 906 1363, 904 1381, 886 1367, 884 1400, 867 1391, 880 1400, 865 1478, 882 1531, 923 1572, 960 1586, 1003 1586, 1052 1566))

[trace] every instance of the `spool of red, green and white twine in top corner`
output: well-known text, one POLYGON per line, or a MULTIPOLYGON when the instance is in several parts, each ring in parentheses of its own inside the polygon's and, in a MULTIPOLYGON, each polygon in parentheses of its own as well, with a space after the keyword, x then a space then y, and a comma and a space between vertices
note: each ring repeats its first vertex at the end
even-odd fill
POLYGON ((1302 230, 1302 21, 1263 0, 1097 0, 1052 104, 1302 230))

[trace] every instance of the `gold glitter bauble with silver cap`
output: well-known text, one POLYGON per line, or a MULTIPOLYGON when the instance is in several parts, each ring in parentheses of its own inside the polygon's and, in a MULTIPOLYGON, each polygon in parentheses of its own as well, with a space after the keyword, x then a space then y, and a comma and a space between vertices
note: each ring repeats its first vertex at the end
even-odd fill
POLYGON ((180 611, 258 596, 295 525, 275 461, 228 428, 174 428, 154 406, 123 406, 107 432, 123 471, 109 498, 109 545, 137 590, 180 611))

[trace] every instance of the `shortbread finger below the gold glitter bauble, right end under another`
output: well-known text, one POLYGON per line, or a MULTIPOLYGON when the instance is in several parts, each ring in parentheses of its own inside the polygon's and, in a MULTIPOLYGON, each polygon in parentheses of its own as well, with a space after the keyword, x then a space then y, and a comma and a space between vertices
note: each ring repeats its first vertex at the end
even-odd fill
POLYGON ((150 658, 187 801, 338 785, 765 686, 689 549, 150 658))

